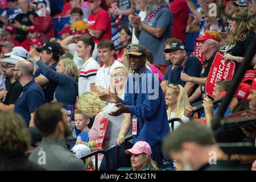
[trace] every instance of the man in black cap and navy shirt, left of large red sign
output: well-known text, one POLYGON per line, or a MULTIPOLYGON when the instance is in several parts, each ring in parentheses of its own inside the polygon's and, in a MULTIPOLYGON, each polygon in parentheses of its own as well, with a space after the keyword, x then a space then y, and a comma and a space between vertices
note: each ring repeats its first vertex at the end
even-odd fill
POLYGON ((184 44, 171 44, 169 52, 171 55, 172 63, 177 65, 178 68, 174 69, 174 71, 168 75, 168 84, 182 85, 188 93, 188 96, 190 96, 195 89, 196 84, 193 82, 182 81, 180 76, 182 73, 187 73, 187 75, 193 75, 193 77, 200 77, 202 64, 196 57, 187 56, 184 44))

